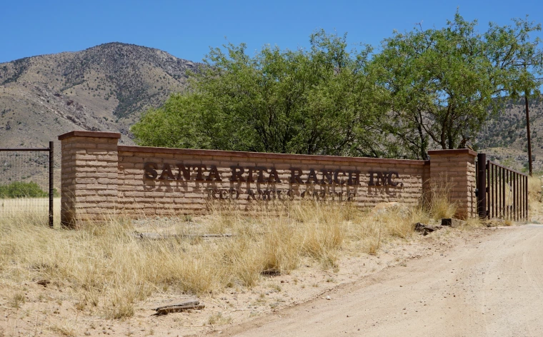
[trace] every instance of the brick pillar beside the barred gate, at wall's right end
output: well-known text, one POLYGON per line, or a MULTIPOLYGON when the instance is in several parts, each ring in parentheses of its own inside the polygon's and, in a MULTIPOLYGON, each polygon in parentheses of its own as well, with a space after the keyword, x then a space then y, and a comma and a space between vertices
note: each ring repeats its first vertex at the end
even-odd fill
POLYGON ((430 183, 449 187, 452 202, 457 203, 457 218, 477 216, 475 195, 475 157, 470 149, 428 151, 430 183))

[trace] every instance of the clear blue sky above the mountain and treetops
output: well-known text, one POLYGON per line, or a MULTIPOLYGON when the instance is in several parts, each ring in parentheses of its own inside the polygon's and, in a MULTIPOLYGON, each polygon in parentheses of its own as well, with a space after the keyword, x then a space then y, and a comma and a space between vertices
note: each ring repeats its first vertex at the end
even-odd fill
MULTIPOLYGON (((0 1, 0 63, 79 51, 118 41, 201 61, 209 47, 245 42, 296 49, 316 29, 347 32, 349 44, 378 46, 393 29, 442 27, 459 8, 465 19, 543 23, 543 1, 0 1)), ((539 34, 543 38, 543 34, 539 34)))

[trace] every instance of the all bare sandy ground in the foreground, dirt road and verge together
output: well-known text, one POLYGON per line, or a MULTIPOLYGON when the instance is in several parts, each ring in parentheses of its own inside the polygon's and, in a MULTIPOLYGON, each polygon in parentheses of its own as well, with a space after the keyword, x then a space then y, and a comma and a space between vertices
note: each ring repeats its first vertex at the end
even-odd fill
POLYGON ((190 296, 157 290, 122 321, 79 311, 69 289, 4 282, 0 336, 543 336, 542 240, 527 225, 445 229, 377 256, 345 247, 335 271, 307 261, 165 316, 152 308, 190 296))

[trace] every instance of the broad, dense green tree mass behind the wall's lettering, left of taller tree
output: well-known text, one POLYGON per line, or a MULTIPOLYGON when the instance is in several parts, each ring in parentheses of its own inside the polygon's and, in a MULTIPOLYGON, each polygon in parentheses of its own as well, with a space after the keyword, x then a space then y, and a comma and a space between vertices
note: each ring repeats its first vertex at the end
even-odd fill
MULTIPOLYGON (((372 49, 347 51, 346 36, 318 31, 310 49, 211 49, 189 91, 142 116, 136 143, 293 154, 386 156, 372 49), (384 145, 383 145, 384 144, 384 145)), ((391 151, 392 149, 392 151, 391 151)), ((391 154, 394 155, 394 154, 391 154)))

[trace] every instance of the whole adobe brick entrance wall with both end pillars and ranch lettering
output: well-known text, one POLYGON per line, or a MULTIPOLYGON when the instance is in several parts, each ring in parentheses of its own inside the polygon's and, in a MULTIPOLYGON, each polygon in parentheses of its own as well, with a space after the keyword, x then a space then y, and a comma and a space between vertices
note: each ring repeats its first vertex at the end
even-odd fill
POLYGON ((209 201, 221 199, 241 209, 288 198, 347 200, 362 208, 416 204, 431 178, 442 179, 442 173, 454 183, 459 215, 472 216, 474 207, 473 159, 464 150, 412 161, 119 146, 119 138, 92 131, 59 136, 66 226, 112 214, 204 213, 209 201))

